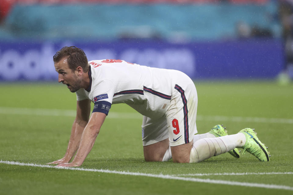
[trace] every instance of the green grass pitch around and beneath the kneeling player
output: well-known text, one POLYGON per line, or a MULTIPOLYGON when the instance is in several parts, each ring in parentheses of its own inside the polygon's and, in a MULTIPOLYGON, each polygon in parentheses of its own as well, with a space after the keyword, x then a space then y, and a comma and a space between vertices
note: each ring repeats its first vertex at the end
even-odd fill
MULTIPOLYGON (((81 168, 138 175, 0 163, 0 194, 293 194, 293 85, 269 81, 195 85, 198 132, 206 133, 217 124, 224 124, 230 134, 255 128, 269 147, 270 162, 260 162, 249 153, 239 159, 222 154, 197 164, 145 162, 142 117, 118 104, 112 105, 81 168), (231 185, 208 182, 214 180, 231 185)), ((74 120, 75 94, 54 83, 0 83, 0 91, 0 160, 45 165, 62 158, 74 120)))

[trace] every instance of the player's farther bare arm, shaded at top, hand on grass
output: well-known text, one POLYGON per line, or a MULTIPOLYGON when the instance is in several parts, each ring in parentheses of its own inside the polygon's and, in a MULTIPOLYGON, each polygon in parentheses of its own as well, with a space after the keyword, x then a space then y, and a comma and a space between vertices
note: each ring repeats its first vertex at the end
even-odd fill
POLYGON ((78 149, 82 132, 89 121, 91 102, 90 100, 77 101, 76 107, 76 117, 72 125, 66 153, 63 158, 48 164, 68 163, 78 149))

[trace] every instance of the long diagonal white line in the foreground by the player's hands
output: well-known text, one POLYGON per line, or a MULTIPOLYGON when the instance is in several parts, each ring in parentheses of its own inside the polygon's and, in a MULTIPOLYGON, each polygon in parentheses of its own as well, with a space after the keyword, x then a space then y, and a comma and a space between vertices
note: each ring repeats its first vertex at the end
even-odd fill
MULTIPOLYGON (((20 166, 33 166, 33 167, 45 167, 45 168, 57 168, 50 165, 38 165, 32 163, 20 163, 14 161, 0 161, 0 163, 8 164, 8 165, 20 165, 20 166)), ((150 174, 150 173, 139 173, 139 172, 125 172, 125 171, 110 171, 104 169, 88 169, 88 168, 76 168, 76 167, 58 167, 58 169, 69 169, 75 171, 90 171, 90 172, 101 172, 101 173, 114 173, 120 175, 131 175, 131 176, 146 176, 146 177, 154 177, 154 178, 162 178, 162 179, 175 179, 175 180, 183 180, 190 182, 200 182, 200 183, 214 183, 214 184, 224 184, 231 186, 248 186, 248 187, 259 187, 259 188, 269 188, 269 189, 281 189, 281 190, 292 190, 291 186, 281 186, 274 184, 264 184, 264 183, 246 183, 246 182, 234 182, 234 181, 226 181, 226 180, 215 180, 215 179, 199 179, 199 178, 189 178, 189 177, 178 177, 171 175, 163 175, 163 174, 150 174)))

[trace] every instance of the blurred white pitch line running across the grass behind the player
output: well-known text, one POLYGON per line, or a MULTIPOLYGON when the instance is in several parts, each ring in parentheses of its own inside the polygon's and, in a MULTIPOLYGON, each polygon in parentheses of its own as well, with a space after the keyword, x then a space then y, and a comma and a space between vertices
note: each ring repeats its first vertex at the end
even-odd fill
MULTIPOLYGON (((10 108, 0 107, 0 114, 12 115, 46 115, 46 116, 71 116, 76 115, 75 110, 61 109, 40 109, 40 108, 10 108)), ((107 118, 112 119, 142 119, 138 112, 109 112, 107 118)), ((260 123, 282 123, 293 124, 293 119, 281 118, 260 118, 260 117, 237 117, 237 116, 203 116, 197 115, 197 120, 201 121, 233 121, 233 122, 260 122, 260 123)))

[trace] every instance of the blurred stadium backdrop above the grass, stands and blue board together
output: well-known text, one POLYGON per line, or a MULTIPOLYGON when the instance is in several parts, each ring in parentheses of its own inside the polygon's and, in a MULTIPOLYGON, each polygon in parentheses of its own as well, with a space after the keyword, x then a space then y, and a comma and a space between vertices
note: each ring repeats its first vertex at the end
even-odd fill
POLYGON ((75 45, 89 60, 179 69, 192 79, 289 82, 292 3, 0 0, 0 81, 56 81, 52 56, 75 45))

